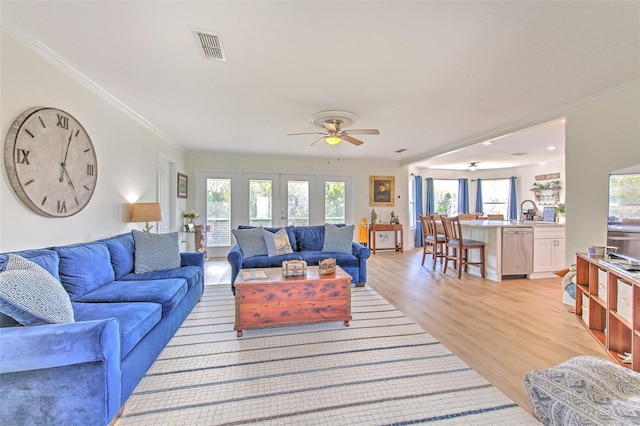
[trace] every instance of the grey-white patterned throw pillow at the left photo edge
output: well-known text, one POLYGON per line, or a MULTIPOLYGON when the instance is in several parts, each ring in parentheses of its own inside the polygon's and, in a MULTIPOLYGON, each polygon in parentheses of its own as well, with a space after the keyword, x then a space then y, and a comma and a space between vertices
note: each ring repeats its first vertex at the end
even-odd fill
POLYGON ((22 325, 74 322, 62 284, 40 265, 14 254, 0 272, 0 311, 22 325))

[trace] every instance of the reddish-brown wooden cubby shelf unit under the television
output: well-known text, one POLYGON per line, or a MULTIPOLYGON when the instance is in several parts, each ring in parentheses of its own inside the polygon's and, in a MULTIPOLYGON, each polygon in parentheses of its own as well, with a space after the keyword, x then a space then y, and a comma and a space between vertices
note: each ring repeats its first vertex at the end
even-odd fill
POLYGON ((576 315, 618 364, 640 372, 640 278, 577 253, 576 315), (631 364, 618 354, 631 352, 631 364))

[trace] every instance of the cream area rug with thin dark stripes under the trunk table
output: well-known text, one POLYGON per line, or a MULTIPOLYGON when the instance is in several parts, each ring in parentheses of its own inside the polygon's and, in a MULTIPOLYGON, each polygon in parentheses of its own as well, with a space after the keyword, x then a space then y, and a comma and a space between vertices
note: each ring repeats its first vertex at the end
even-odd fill
POLYGON ((368 287, 350 327, 233 330, 209 285, 125 405, 125 425, 539 424, 368 287))

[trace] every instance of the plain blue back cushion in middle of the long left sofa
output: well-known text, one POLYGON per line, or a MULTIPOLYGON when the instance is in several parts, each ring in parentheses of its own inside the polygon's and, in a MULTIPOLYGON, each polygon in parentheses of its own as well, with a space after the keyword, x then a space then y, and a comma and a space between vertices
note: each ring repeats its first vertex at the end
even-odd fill
POLYGON ((114 280, 111 256, 102 242, 56 247, 60 281, 71 300, 114 280))

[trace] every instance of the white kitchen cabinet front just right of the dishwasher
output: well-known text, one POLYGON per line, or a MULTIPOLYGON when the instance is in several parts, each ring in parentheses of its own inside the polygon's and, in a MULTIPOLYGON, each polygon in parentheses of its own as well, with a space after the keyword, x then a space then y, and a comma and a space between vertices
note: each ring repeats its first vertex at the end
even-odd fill
POLYGON ((535 227, 533 230, 533 272, 554 272, 565 268, 564 227, 535 227))

